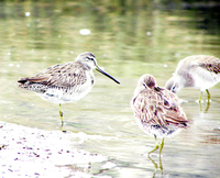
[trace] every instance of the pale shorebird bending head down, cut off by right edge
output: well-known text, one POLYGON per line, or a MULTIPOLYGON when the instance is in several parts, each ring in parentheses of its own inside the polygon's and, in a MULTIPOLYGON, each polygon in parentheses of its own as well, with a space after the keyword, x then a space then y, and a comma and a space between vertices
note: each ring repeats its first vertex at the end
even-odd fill
POLYGON ((202 91, 207 91, 208 103, 210 100, 209 88, 220 81, 220 59, 207 55, 194 55, 182 59, 174 76, 169 78, 165 88, 177 93, 185 87, 200 89, 199 103, 202 91))

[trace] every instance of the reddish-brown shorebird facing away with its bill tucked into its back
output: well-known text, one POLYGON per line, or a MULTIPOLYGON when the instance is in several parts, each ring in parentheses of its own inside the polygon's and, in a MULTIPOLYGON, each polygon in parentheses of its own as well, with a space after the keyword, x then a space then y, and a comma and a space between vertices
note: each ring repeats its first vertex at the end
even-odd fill
POLYGON ((187 127, 188 120, 178 103, 178 97, 167 89, 157 87, 152 75, 140 77, 130 104, 140 129, 155 137, 155 147, 148 155, 160 147, 161 156, 164 137, 175 135, 187 127), (162 138, 161 146, 157 138, 162 138))

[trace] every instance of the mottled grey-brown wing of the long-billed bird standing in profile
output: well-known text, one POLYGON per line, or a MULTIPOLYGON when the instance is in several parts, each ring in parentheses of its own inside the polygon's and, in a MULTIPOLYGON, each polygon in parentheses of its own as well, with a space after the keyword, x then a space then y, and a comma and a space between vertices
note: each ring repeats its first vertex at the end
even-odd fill
POLYGON ((41 74, 22 78, 19 82, 34 82, 56 87, 74 87, 86 81, 86 73, 78 63, 67 63, 48 67, 41 74))

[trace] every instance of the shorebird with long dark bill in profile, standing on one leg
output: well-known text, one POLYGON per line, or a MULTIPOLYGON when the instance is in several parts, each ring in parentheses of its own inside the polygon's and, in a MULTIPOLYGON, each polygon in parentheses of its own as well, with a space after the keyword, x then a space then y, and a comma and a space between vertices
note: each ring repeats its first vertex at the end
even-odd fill
POLYGON ((117 79, 100 69, 92 53, 86 52, 77 56, 75 62, 48 67, 34 77, 21 78, 19 87, 35 91, 42 99, 59 103, 59 115, 63 126, 61 104, 84 98, 94 87, 92 69, 97 69, 117 84, 117 79))

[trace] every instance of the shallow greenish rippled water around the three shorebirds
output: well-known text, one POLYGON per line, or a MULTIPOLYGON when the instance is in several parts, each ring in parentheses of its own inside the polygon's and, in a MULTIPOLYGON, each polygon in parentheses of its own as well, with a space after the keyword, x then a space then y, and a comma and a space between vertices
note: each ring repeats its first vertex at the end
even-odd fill
MULTIPOLYGON (((215 9, 153 8, 151 3, 117 2, 1 2, 0 3, 0 115, 2 121, 59 130, 58 104, 16 88, 20 77, 34 76, 51 65, 92 52, 99 66, 121 81, 118 86, 95 71, 96 85, 80 101, 63 104, 64 129, 74 133, 112 136, 76 145, 99 153, 118 165, 92 165, 91 174, 112 177, 152 177, 154 165, 143 156, 154 138, 138 127, 130 100, 138 79, 152 74, 164 86, 178 60, 206 54, 220 57, 219 12, 215 9), (30 12, 26 13, 26 12, 30 12), (81 35, 81 29, 90 30, 81 35)), ((178 5, 176 5, 178 7, 178 5)), ((167 177, 217 177, 220 174, 220 85, 210 89, 206 110, 196 100, 200 91, 178 96, 189 127, 165 140, 162 164, 167 177)), ((156 155, 152 158, 158 163, 156 155)), ((156 176, 160 177, 158 170, 156 176)))

